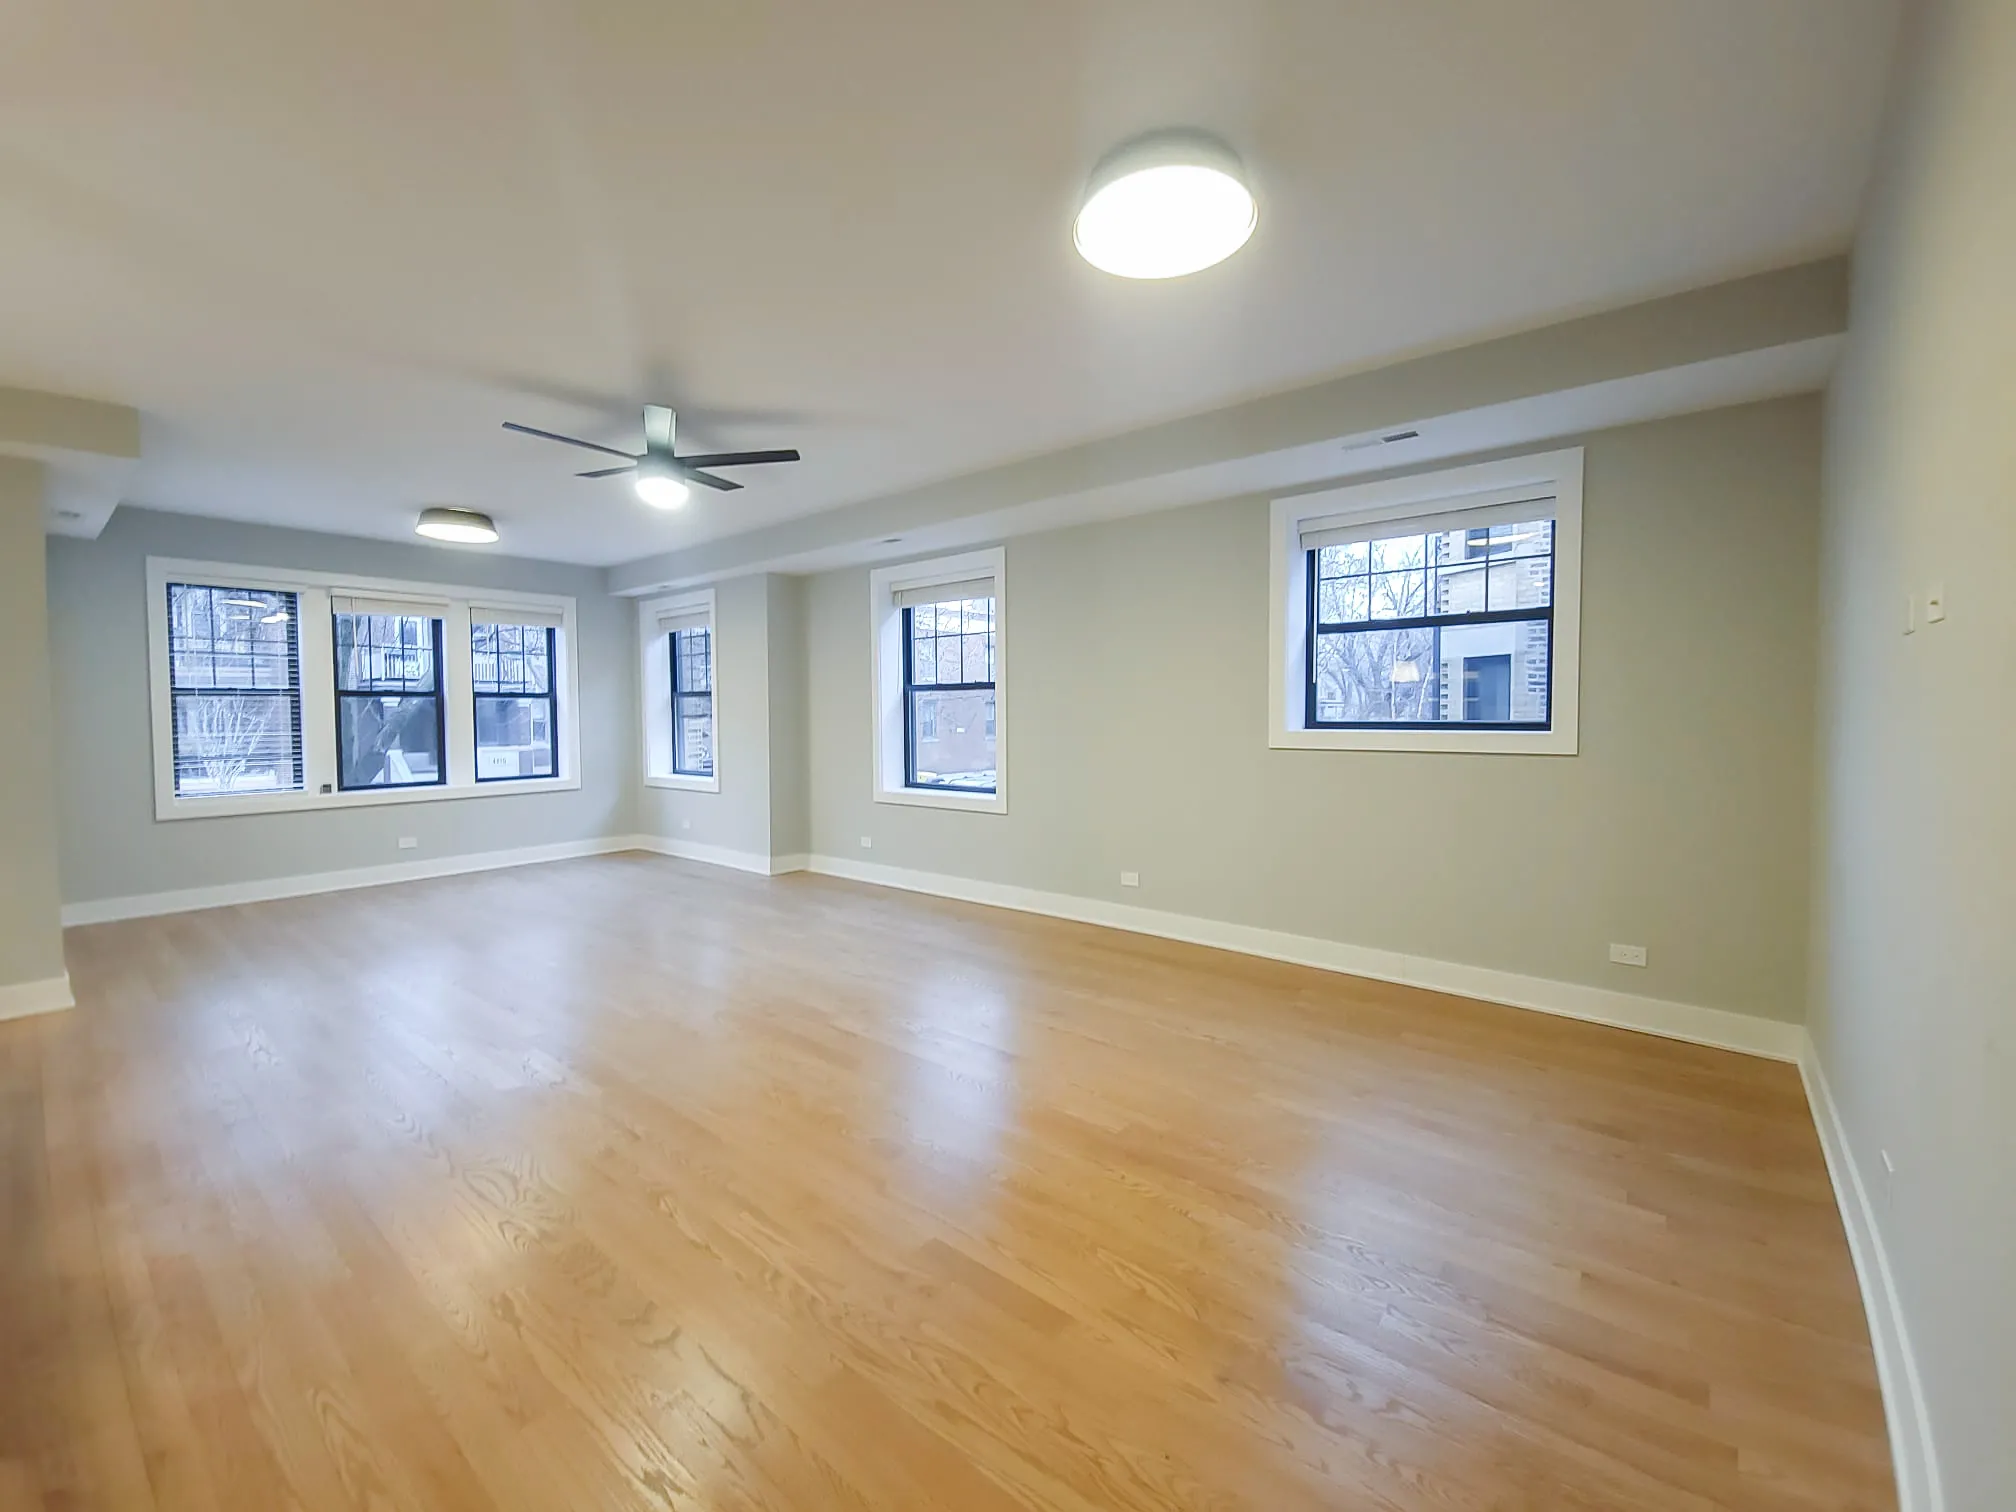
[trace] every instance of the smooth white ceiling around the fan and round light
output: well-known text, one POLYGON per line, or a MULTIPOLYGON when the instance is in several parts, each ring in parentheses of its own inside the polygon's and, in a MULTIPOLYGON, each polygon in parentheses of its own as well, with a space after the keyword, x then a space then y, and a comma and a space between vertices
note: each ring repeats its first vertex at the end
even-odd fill
POLYGON ((0 383, 137 405, 127 498, 619 562, 1847 246, 1897 0, 14 0, 0 383), (1236 258, 1070 250, 1230 139, 1236 258), (645 510, 635 446, 800 446, 645 510))

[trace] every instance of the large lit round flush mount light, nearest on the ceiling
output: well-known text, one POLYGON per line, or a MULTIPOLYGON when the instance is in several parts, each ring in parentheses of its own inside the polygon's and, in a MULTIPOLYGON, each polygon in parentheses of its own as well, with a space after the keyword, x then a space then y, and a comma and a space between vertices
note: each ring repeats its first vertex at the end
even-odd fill
POLYGON ((1202 131, 1155 131, 1093 169, 1073 240, 1121 278, 1181 278, 1230 258, 1256 224, 1238 153, 1202 131))

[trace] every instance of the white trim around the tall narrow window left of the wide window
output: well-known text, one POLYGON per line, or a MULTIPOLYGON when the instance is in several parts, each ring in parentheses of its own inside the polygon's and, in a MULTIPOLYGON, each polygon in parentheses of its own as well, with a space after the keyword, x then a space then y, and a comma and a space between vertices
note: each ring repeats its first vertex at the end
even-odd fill
POLYGON ((1008 554, 1000 546, 877 566, 869 573, 869 698, 875 728, 873 796, 913 808, 1008 812, 1008 554), (939 583, 994 579, 994 792, 929 792, 903 784, 903 611, 895 595, 939 583))

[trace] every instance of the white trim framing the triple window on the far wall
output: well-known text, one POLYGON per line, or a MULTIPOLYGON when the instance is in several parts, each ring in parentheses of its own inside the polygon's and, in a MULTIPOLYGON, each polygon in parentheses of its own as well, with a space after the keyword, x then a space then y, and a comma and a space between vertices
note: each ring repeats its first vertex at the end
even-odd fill
POLYGON ((581 651, 575 601, 554 593, 512 593, 450 583, 359 577, 353 573, 284 571, 238 562, 147 558, 147 689, 153 714, 153 816, 238 818, 300 808, 369 808, 387 802, 456 798, 520 798, 528 792, 581 788, 581 651), (300 774, 302 792, 240 792, 214 798, 175 796, 175 702, 167 671, 167 585, 200 583, 268 589, 300 597, 300 774), (337 691, 331 645, 331 595, 417 599, 442 605, 442 722, 448 736, 448 782, 425 788, 337 788, 337 691), (560 706, 556 732, 560 776, 512 782, 476 780, 476 671, 470 653, 470 609, 536 609, 560 617, 560 657, 554 679, 560 706), (329 792, 323 792, 323 786, 329 792))

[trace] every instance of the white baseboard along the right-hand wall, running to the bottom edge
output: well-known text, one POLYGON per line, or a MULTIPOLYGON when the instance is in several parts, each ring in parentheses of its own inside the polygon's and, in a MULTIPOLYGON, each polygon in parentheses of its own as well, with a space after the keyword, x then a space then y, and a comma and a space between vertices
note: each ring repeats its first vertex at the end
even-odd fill
POLYGON ((1891 1272, 1883 1230, 1877 1226, 1869 1185, 1855 1161, 1849 1133, 1835 1107, 1820 1056, 1810 1036, 1804 1036, 1798 1075, 1806 1083, 1806 1101, 1820 1131, 1820 1151, 1826 1173, 1835 1181, 1835 1202, 1841 1224, 1849 1232, 1849 1254, 1855 1258, 1855 1278, 1863 1288, 1863 1310, 1869 1314, 1869 1343, 1877 1357, 1877 1381, 1883 1387, 1883 1413, 1889 1419, 1891 1460, 1897 1466, 1897 1512, 1945 1512, 1939 1488, 1939 1460, 1933 1454, 1931 1413, 1925 1389, 1917 1379, 1917 1357, 1911 1353, 1911 1333, 1905 1329, 1903 1304, 1897 1300, 1897 1278, 1891 1272))

